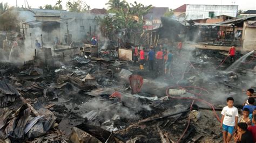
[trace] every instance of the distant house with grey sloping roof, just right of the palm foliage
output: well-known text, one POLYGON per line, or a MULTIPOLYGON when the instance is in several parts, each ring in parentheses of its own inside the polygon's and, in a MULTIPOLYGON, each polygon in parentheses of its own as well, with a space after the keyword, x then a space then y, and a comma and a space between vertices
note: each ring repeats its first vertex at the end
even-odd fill
POLYGON ((143 20, 145 21, 146 25, 160 25, 161 17, 164 16, 166 12, 169 11, 169 8, 157 8, 153 7, 149 13, 143 16, 143 20))

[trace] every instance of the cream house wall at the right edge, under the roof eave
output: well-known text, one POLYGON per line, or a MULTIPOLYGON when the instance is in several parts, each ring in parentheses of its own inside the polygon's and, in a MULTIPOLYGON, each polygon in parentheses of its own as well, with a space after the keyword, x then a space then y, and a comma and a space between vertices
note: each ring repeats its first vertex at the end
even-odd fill
POLYGON ((243 45, 242 48, 244 51, 253 51, 256 50, 256 27, 247 27, 244 23, 244 29, 242 33, 243 45))

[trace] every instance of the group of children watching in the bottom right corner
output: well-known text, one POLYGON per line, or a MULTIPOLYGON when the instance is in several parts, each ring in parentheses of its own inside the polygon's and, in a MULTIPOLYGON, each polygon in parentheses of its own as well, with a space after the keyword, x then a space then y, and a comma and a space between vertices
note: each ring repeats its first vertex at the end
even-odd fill
POLYGON ((227 106, 221 111, 221 125, 224 142, 234 141, 241 143, 256 142, 256 106, 254 106, 254 90, 248 89, 246 100, 239 118, 238 109, 235 108, 234 99, 227 98, 227 106))

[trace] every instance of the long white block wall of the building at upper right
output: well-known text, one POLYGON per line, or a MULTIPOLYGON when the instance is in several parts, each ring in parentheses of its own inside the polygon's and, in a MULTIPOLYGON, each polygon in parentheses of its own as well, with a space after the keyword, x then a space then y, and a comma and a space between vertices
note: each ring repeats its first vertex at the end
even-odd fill
POLYGON ((209 12, 214 16, 226 15, 237 17, 238 5, 196 5, 188 4, 186 8, 186 20, 204 19, 209 17, 209 12))

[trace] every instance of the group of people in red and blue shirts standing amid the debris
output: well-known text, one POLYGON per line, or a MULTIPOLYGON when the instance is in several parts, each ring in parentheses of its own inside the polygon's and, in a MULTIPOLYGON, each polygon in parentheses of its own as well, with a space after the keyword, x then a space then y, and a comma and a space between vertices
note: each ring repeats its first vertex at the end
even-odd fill
MULTIPOLYGON (((182 42, 178 42, 178 53, 180 53, 181 47, 182 42)), ((150 71, 157 69, 159 74, 170 74, 173 61, 173 54, 171 49, 168 51, 167 48, 164 48, 162 44, 160 44, 158 48, 154 47, 154 45, 151 45, 147 56, 145 55, 145 50, 146 48, 143 48, 139 51, 137 47, 134 49, 133 57, 134 61, 138 61, 139 57, 139 69, 143 70, 144 64, 147 62, 150 71)))

